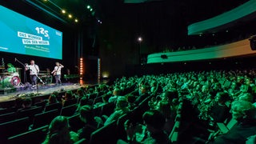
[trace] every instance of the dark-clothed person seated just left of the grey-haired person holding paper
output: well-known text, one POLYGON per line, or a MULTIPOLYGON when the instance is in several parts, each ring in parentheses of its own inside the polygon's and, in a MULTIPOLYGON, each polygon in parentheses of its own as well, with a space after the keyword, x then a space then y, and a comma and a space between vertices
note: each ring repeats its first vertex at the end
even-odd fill
POLYGON ((229 117, 230 109, 226 106, 229 95, 224 92, 218 92, 215 97, 215 104, 210 108, 210 117, 214 122, 224 122, 229 117))

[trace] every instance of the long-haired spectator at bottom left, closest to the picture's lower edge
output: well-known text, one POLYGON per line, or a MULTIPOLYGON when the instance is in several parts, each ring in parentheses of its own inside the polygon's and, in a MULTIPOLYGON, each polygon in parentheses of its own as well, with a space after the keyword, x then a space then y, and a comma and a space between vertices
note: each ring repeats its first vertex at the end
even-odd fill
POLYGON ((58 116, 50 122, 49 132, 43 144, 72 144, 78 141, 78 134, 69 130, 66 117, 58 116))

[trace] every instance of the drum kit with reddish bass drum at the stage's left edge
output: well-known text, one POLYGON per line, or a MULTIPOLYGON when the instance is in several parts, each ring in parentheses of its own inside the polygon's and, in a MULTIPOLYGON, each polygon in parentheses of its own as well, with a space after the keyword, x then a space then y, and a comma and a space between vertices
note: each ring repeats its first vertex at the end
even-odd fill
POLYGON ((6 73, 5 67, 0 67, 0 71, 2 71, 2 73, 0 73, 0 87, 19 86, 21 84, 21 79, 19 78, 20 70, 22 70, 22 68, 16 68, 17 72, 14 73, 6 73))

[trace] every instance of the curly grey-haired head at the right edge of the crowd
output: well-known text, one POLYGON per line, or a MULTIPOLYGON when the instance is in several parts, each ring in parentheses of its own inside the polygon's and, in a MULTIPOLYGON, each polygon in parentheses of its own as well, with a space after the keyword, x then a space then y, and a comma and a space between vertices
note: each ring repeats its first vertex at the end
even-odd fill
POLYGON ((230 113, 232 118, 242 121, 245 119, 254 119, 255 117, 255 106, 251 102, 246 101, 234 101, 231 104, 230 113))

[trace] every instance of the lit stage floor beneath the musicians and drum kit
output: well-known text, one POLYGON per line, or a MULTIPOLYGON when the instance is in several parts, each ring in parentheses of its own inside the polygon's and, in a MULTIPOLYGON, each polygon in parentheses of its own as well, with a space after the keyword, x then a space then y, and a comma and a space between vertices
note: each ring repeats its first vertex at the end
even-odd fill
POLYGON ((35 94, 36 96, 51 94, 54 91, 61 90, 76 90, 81 86, 88 86, 90 84, 80 85, 79 83, 62 83, 62 86, 54 86, 49 84, 46 86, 38 86, 38 89, 24 88, 25 86, 17 87, 16 91, 8 94, 0 94, 0 102, 13 101, 19 94, 35 94))

